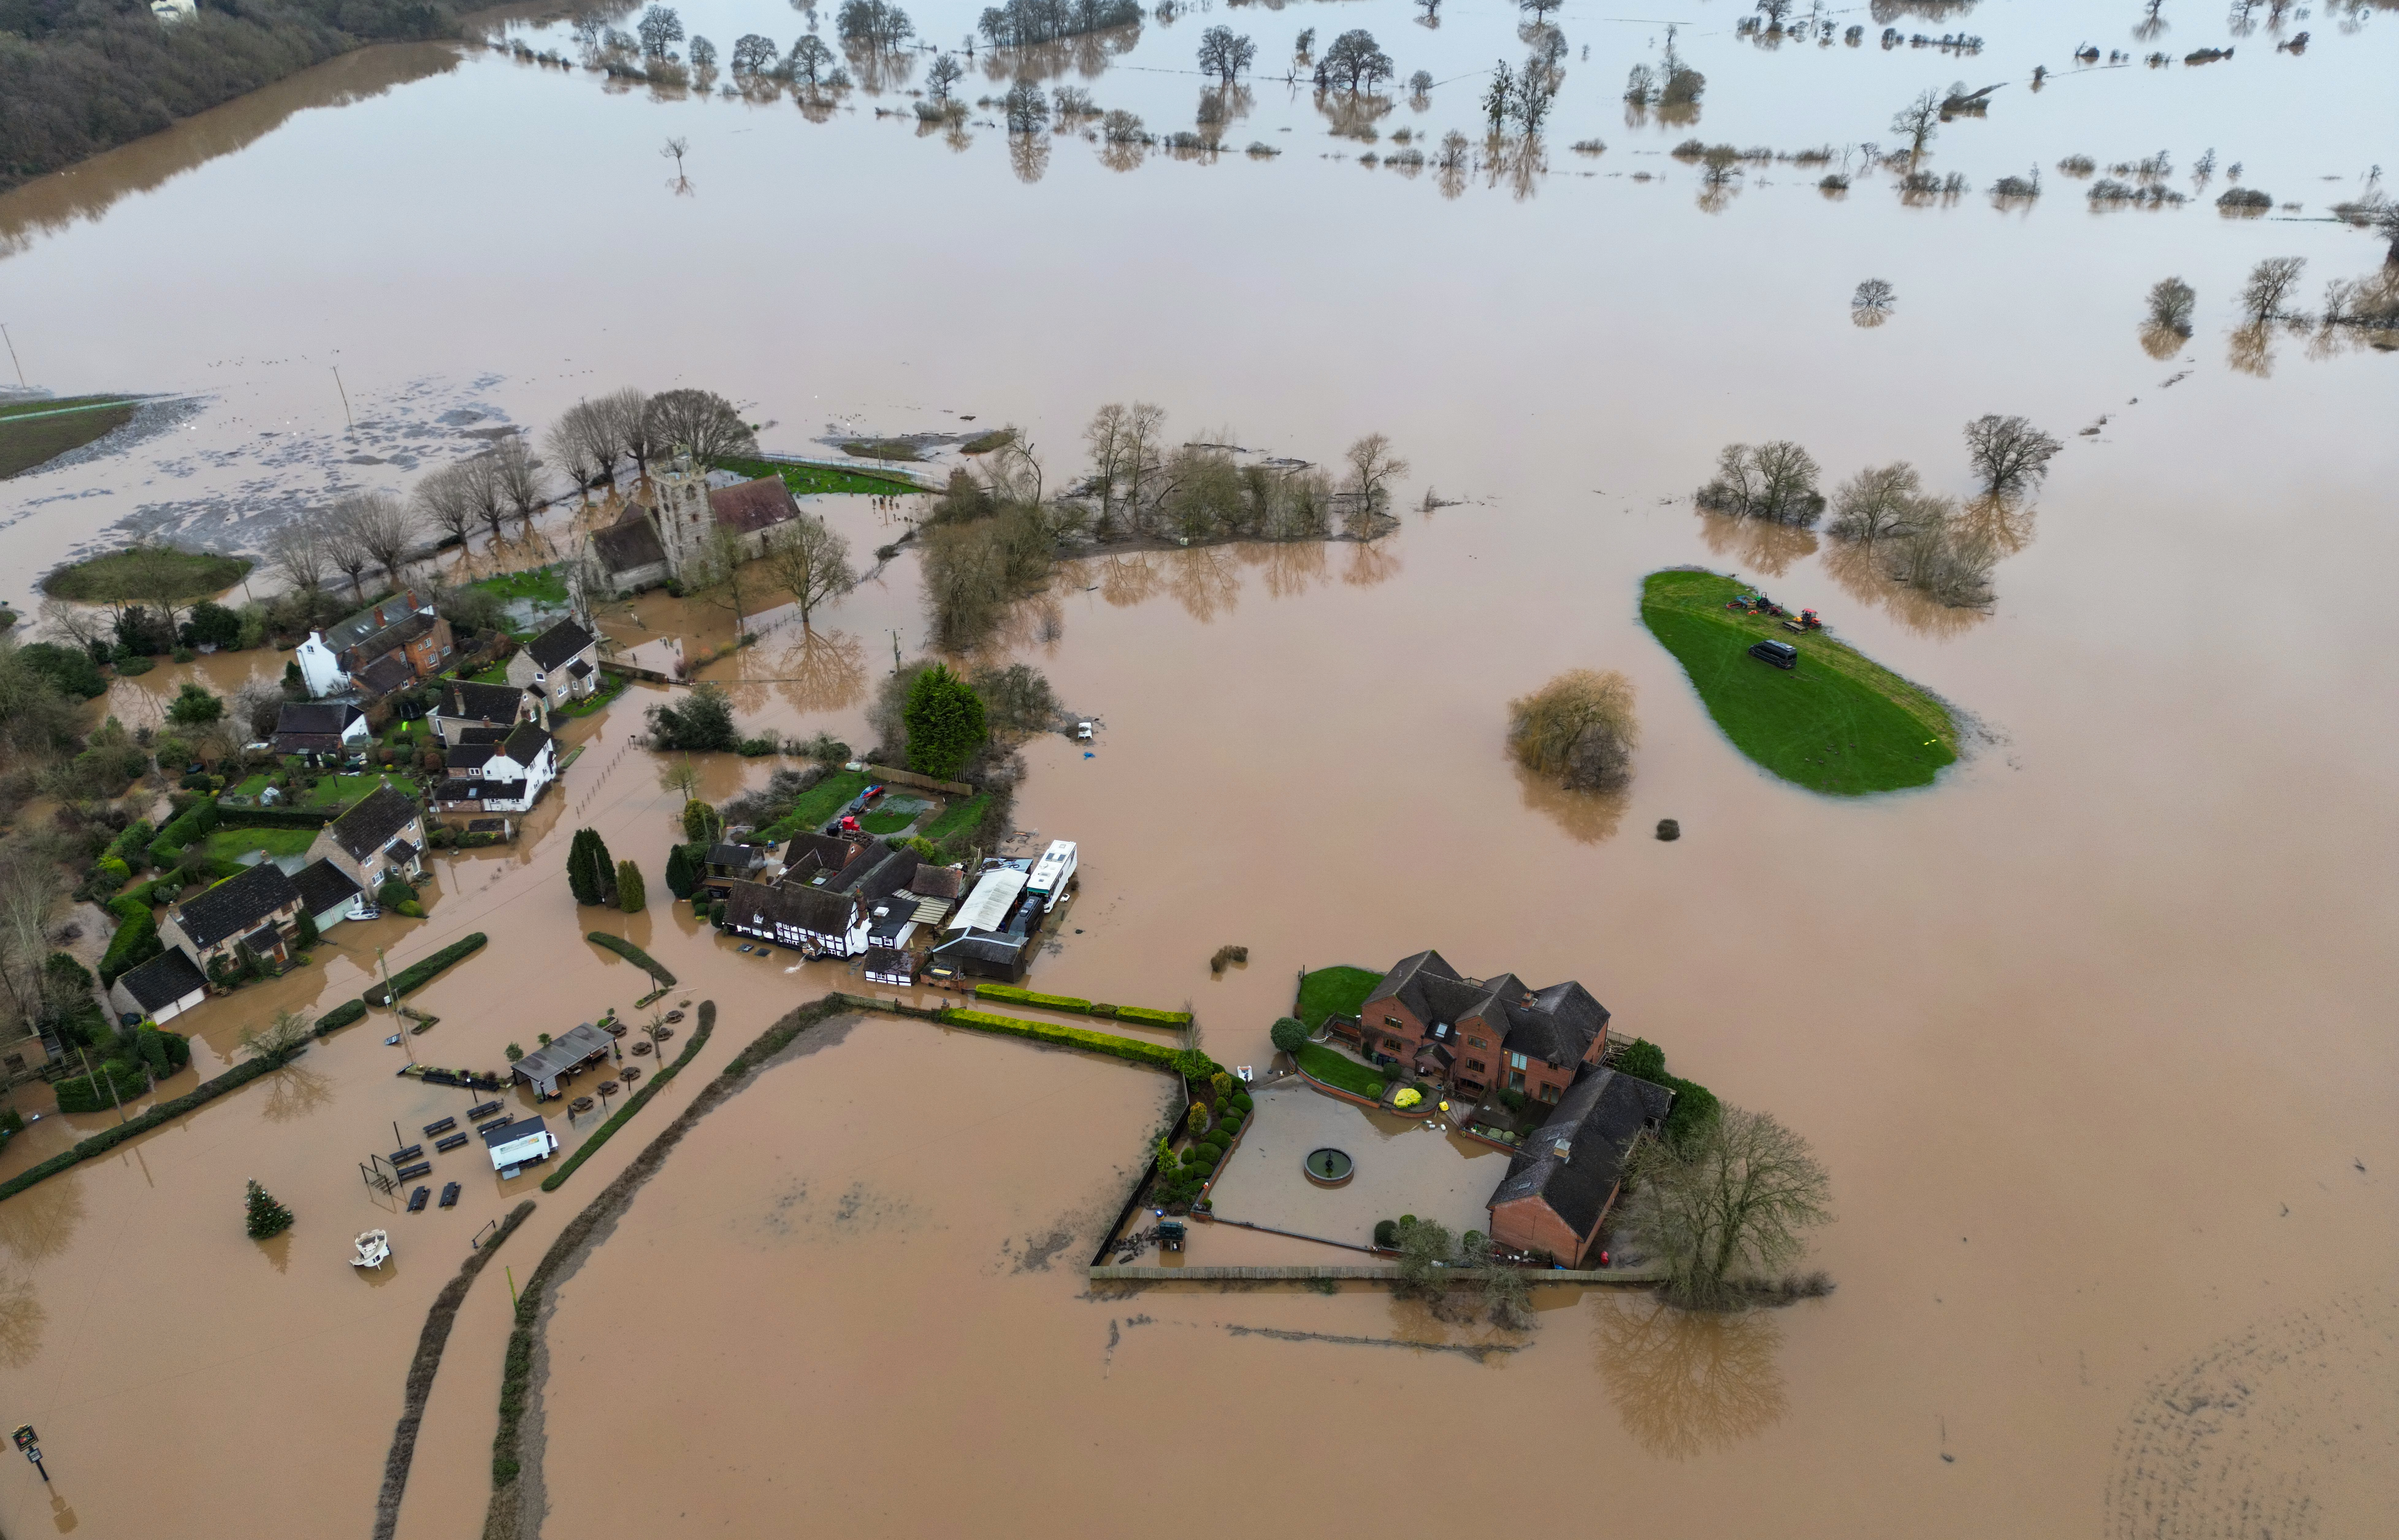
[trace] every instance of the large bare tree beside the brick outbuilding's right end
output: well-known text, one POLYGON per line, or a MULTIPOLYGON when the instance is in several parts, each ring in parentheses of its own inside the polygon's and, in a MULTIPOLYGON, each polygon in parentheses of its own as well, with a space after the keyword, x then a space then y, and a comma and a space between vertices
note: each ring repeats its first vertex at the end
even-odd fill
POLYGON ((1631 1156, 1624 1226, 1667 1269, 1665 1295, 1722 1310, 1806 1247, 1802 1231, 1833 1219, 1833 1183, 1806 1139, 1737 1106, 1684 1135, 1643 1137, 1631 1156))

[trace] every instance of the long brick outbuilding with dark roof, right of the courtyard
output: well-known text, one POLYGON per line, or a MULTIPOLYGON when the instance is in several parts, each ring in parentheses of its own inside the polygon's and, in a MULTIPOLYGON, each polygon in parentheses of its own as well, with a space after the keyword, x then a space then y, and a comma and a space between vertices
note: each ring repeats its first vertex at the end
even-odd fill
POLYGON ((1672 1106, 1675 1091, 1615 1070, 1579 1079, 1492 1190, 1492 1240, 1583 1267, 1624 1192, 1627 1156, 1672 1106))

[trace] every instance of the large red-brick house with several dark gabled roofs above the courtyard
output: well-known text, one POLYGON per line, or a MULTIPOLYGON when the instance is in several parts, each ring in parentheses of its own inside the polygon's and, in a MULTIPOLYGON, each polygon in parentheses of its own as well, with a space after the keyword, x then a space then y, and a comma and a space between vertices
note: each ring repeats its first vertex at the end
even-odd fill
POLYGON ((1336 1031, 1461 1096, 1523 1091, 1555 1103, 1607 1051, 1607 1007, 1571 979, 1535 991, 1514 974, 1466 979, 1439 952, 1418 952, 1382 976, 1355 1031, 1336 1031))

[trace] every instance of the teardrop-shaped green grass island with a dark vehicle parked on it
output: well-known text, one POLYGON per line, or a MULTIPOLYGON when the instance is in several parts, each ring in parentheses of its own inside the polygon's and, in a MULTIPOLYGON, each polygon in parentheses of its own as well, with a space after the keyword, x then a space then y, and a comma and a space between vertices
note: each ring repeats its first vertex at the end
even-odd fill
POLYGON ((1686 569, 1641 580, 1641 624, 1734 748, 1828 796, 1929 787, 1958 760, 1958 724, 1936 696, 1823 631, 1794 636, 1775 616, 1725 609, 1739 592, 1732 578, 1686 569), (1758 638, 1799 648, 1799 667, 1749 657, 1758 638))

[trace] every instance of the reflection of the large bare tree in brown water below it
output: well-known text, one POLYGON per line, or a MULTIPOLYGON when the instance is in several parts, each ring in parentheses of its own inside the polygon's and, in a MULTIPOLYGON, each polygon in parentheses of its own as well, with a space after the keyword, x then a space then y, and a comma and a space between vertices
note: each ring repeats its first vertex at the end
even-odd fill
POLYGON ((1591 1346, 1624 1432, 1660 1458, 1730 1449, 1782 1418, 1782 1329, 1766 1312, 1694 1315, 1648 1295, 1605 1300, 1591 1346))

